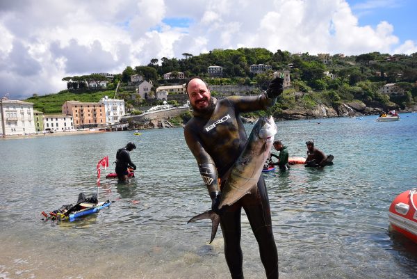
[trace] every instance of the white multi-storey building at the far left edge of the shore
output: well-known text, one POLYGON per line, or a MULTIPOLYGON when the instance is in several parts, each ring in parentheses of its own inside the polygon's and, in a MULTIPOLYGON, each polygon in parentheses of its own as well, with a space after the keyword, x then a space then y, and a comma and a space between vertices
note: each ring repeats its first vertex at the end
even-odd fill
POLYGON ((33 103, 13 99, 0 100, 0 135, 35 133, 33 103))

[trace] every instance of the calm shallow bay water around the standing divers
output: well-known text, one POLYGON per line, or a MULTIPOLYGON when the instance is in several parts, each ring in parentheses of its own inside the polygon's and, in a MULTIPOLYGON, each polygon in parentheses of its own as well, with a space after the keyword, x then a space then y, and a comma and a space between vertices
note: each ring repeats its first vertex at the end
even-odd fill
MULTIPOLYGON (((280 278, 417 278, 417 245, 391 232, 387 216, 395 196, 417 186, 417 113, 375 119, 277 122, 290 157, 305 157, 310 139, 334 155, 323 170, 264 174, 280 278)), ((208 245, 210 223, 186 223, 211 202, 183 129, 141 132, 0 141, 0 278, 229 278, 220 230, 208 245), (136 178, 102 177, 110 208, 42 221, 40 212, 95 193, 97 162, 115 161, 128 141, 138 146, 136 178)), ((242 223, 245 277, 265 278, 244 213, 242 223)))

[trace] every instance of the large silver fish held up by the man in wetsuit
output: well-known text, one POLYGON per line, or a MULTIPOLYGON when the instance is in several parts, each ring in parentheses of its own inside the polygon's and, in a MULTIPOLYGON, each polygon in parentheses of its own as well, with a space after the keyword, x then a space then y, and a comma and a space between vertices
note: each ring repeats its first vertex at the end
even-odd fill
MULTIPOLYGON (((250 193, 253 187, 256 187, 262 173, 263 164, 270 156, 270 148, 276 133, 277 125, 275 125, 272 116, 259 118, 247 139, 245 148, 231 167, 227 181, 222 187, 219 209, 225 205, 233 205, 247 193, 250 193)), ((220 216, 209 210, 190 218, 187 223, 202 219, 211 219, 211 243, 218 230, 220 216)))

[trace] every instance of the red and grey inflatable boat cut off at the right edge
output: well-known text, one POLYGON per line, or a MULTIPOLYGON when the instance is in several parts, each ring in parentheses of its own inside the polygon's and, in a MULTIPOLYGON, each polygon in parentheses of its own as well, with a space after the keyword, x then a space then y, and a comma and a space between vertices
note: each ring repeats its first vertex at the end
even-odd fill
POLYGON ((407 190, 393 200, 388 220, 391 227, 417 243, 417 189, 407 190))

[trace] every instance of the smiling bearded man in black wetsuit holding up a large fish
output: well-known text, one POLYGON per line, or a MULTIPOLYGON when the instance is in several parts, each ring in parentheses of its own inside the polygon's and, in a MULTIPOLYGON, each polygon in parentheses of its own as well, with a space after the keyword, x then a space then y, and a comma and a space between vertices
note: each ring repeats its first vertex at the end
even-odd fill
POLYGON ((259 96, 232 96, 224 99, 211 97, 208 86, 195 77, 186 84, 193 115, 185 129, 188 148, 199 166, 200 174, 211 197, 212 210, 220 214, 220 226, 224 238, 224 255, 232 278, 243 278, 243 255, 240 248, 240 212, 243 209, 256 241, 261 261, 268 278, 278 278, 278 255, 272 232, 268 193, 263 177, 250 194, 238 202, 218 210, 221 188, 228 170, 245 147, 247 135, 240 113, 268 109, 282 93, 283 79, 271 81, 266 93, 259 96), (218 178, 220 178, 220 185, 218 178))

